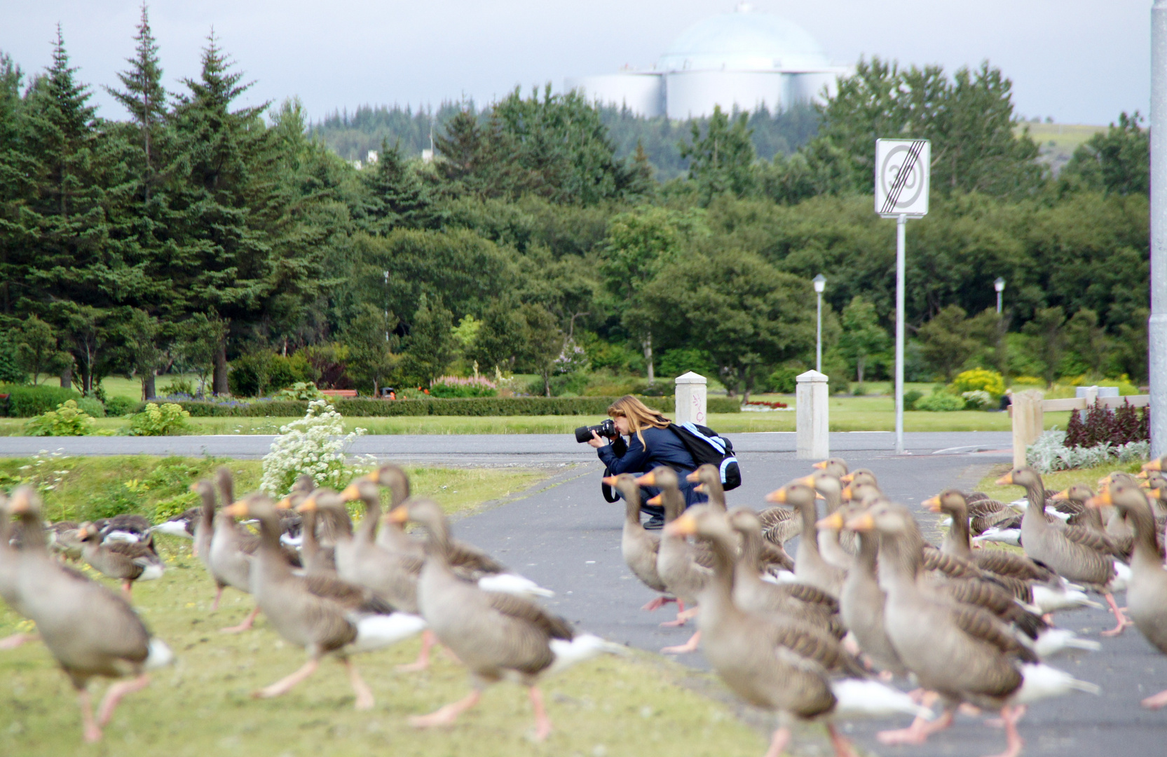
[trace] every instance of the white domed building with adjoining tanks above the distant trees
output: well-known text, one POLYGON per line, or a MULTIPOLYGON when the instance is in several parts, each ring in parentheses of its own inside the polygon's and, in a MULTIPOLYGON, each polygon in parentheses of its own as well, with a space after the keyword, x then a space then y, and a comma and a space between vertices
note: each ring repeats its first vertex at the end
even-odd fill
POLYGON ((818 100, 850 73, 798 24, 742 2, 685 29, 651 70, 574 77, 565 86, 638 115, 686 119, 710 115, 715 105, 776 111, 818 100))

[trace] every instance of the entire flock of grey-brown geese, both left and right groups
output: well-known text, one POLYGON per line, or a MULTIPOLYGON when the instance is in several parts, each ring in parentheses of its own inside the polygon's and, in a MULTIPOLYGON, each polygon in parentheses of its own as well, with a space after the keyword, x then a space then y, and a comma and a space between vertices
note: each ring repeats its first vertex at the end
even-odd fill
MULTIPOLYGON (((958 708, 999 710, 1007 740, 1001 757, 1015 757, 1022 748, 1016 724, 1029 702, 1098 693, 1043 663, 1064 650, 1099 647, 1056 628, 1054 612, 1100 608, 1089 594, 1100 595, 1116 618, 1104 636, 1133 624, 1167 653, 1165 464, 1145 465, 1142 482, 1111 474, 1098 493, 1084 485, 1047 491, 1034 470, 1015 469, 998 481, 1025 489, 1025 499, 1009 504, 945 490, 924 502, 951 519, 938 547, 924 540, 907 507, 882 495, 872 471, 848 471, 839 458, 770 492, 774 506, 761 512, 727 507, 712 465, 689 476, 708 504, 687 510, 670 468, 605 481, 626 502, 623 558, 658 593, 644 609, 676 602, 677 618, 664 625, 697 618, 692 638, 664 651, 700 649, 738 696, 778 715, 767 757, 784 750, 794 721, 823 723, 836 755, 853 757, 834 726, 839 720, 911 715, 909 727, 878 738, 920 744, 950 726, 958 708), (661 491, 649 500, 664 506, 659 533, 641 525, 642 486, 661 491), (795 537, 791 558, 785 544, 795 537), (1011 541, 1023 554, 977 548, 981 541, 1011 541), (1112 596, 1120 590, 1125 609, 1112 596), (893 688, 897 678, 917 688, 893 688)), ((356 708, 369 709, 373 695, 351 656, 421 635, 417 661, 401 670, 425 668, 440 644, 467 667, 471 689, 411 717, 413 726, 449 724, 488 685, 510 679, 529 688, 543 740, 551 721, 538 682, 624 649, 576 633, 536 601, 552 591, 455 539, 440 505, 411 497, 408 478, 394 465, 342 492, 315 489, 305 476, 279 502, 259 492, 236 499, 226 469, 191 490, 201 505, 159 525, 133 516, 47 524, 32 488, 0 495, 0 597, 36 626, 35 635, 0 640, 0 649, 44 643, 76 689, 86 741, 100 740, 120 699, 174 659, 131 604, 135 581, 162 574, 155 532, 193 539, 216 586, 214 608, 228 588, 254 598, 246 619, 224 631, 245 631, 263 614, 306 650, 302 667, 257 698, 288 692, 333 656, 347 671, 356 708), (356 502, 364 514, 354 524, 349 507, 356 502), (417 533, 406 531, 411 523, 420 526, 417 533), (121 590, 70 567, 70 559, 120 581, 121 590), (93 678, 120 679, 96 717, 88 691, 93 678)), ((1167 692, 1142 703, 1167 706, 1167 692)))

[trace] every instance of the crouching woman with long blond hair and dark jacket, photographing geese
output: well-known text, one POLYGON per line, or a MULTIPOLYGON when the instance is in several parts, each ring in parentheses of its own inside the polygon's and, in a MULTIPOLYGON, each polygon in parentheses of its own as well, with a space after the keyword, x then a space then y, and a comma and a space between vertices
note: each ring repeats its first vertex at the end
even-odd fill
MULTIPOLYGON (((620 435, 609 443, 607 439, 592 432, 588 444, 596 448, 600 460, 613 476, 642 475, 657 465, 668 465, 680 477, 680 492, 685 496, 686 507, 705 502, 705 496, 693 491, 693 484, 685 481, 685 476, 697 468, 697 463, 684 442, 669 428, 672 421, 631 394, 613 402, 608 415, 620 435), (624 436, 628 437, 627 442, 624 436)), ((658 493, 661 490, 655 486, 641 486, 641 503, 658 493)), ((661 505, 641 504, 641 510, 650 516, 644 524, 645 528, 661 528, 664 525, 664 507, 661 505)))

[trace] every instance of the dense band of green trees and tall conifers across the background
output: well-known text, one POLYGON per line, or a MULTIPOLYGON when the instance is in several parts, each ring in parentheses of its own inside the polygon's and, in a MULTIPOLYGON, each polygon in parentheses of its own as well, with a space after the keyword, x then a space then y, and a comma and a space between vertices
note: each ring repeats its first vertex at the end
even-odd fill
POLYGON ((145 8, 134 41, 110 90, 124 120, 97 115, 60 30, 35 76, 0 54, 0 380, 93 393, 123 374, 152 397, 182 370, 226 393, 231 366, 296 360, 364 391, 497 369, 578 393, 588 374, 692 369, 749 392, 812 364, 818 273, 825 369, 878 378, 894 229, 871 208, 876 135, 932 140, 932 212, 908 232, 909 378, 1146 377, 1139 115, 1050 175, 987 63, 862 61, 822 106, 662 121, 686 162, 669 177, 651 129, 629 146, 627 114, 550 87, 445 108, 433 162, 386 131, 357 169, 295 99, 242 107, 214 36, 173 93, 145 8), (780 120, 799 143, 760 154, 780 120))

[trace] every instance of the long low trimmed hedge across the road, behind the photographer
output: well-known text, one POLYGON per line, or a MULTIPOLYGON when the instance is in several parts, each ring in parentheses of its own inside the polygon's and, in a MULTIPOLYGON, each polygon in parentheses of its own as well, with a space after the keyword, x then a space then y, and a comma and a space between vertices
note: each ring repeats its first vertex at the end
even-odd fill
MULTIPOLYGON (((615 397, 473 397, 459 399, 418 400, 333 400, 336 411, 345 418, 387 418, 394 415, 605 415, 615 397)), ((671 397, 642 397, 645 405, 657 412, 672 412, 671 397)), ((308 402, 272 400, 251 404, 179 402, 193 418, 207 416, 299 416, 308 411, 308 402)), ((710 413, 738 413, 736 399, 712 397, 710 413)))

